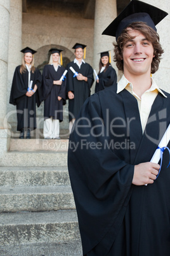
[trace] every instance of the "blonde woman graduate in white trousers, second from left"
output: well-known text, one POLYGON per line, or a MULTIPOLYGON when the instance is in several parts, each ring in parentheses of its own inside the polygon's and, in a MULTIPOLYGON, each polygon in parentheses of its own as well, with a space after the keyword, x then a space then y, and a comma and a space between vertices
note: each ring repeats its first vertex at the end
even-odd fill
POLYGON ((44 130, 45 139, 60 139, 60 122, 63 120, 66 80, 60 81, 65 68, 61 66, 62 50, 51 48, 49 64, 44 66, 42 73, 42 92, 44 99, 44 130), (61 55, 61 57, 60 57, 61 55))

